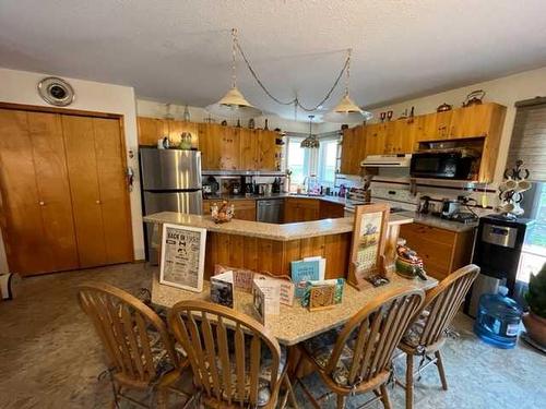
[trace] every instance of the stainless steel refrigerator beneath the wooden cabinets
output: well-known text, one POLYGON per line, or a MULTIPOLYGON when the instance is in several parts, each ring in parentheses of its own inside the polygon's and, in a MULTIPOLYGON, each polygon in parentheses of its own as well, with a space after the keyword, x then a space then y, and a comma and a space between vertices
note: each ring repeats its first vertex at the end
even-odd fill
MULTIPOLYGON (((182 149, 140 148, 143 214, 179 212, 201 215, 201 152, 182 149)), ((157 263, 152 248, 153 226, 145 225, 146 254, 157 263)))

